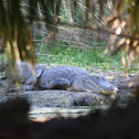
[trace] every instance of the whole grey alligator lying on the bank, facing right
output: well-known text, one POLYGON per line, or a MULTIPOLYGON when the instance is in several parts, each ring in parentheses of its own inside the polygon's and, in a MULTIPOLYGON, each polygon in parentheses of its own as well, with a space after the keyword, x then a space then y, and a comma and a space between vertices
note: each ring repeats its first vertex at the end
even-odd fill
MULTIPOLYGON (((117 93, 118 88, 111 85, 104 76, 92 75, 89 72, 72 65, 46 67, 36 65, 32 74, 31 65, 23 62, 18 68, 18 78, 23 83, 23 90, 35 89, 68 89, 94 93, 117 93)), ((13 76, 12 76, 13 77, 13 76)))

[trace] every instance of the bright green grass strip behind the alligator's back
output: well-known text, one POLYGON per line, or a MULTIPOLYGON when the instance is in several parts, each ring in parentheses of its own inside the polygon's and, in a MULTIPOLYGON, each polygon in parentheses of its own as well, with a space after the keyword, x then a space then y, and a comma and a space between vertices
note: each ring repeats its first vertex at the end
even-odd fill
MULTIPOLYGON (((117 53, 114 56, 107 56, 104 54, 104 46, 101 49, 75 49, 68 46, 62 46, 60 42, 49 46, 43 45, 41 53, 46 55, 39 56, 39 63, 50 64, 64 64, 75 65, 85 68, 100 67, 101 70, 124 71, 121 64, 121 53, 117 53)), ((40 49, 40 43, 36 44, 36 51, 40 49)), ((137 72, 136 68, 129 68, 129 72, 137 72)))

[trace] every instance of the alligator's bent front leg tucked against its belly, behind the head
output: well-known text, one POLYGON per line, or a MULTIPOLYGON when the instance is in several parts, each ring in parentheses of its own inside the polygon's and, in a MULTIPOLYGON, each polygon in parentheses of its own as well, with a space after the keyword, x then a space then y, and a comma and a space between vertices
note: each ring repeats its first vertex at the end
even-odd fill
POLYGON ((67 89, 70 81, 66 78, 55 78, 50 84, 41 85, 42 89, 67 89))

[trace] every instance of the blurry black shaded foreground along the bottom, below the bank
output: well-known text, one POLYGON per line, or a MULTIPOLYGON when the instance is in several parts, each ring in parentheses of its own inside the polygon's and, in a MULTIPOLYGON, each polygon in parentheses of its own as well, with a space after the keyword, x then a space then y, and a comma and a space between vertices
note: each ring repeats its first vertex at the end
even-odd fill
POLYGON ((1 139, 139 138, 138 99, 136 99, 136 103, 129 103, 126 108, 113 106, 104 114, 97 109, 76 119, 57 117, 45 122, 29 120, 29 103, 21 98, 0 104, 1 139))

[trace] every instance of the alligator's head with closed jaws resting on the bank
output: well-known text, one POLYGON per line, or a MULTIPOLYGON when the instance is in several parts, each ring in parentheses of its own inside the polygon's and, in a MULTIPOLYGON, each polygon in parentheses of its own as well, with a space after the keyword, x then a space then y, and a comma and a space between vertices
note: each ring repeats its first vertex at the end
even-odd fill
POLYGON ((99 75, 76 78, 72 84, 72 89, 104 94, 113 94, 118 92, 116 86, 110 84, 104 76, 99 75))

